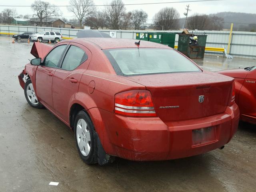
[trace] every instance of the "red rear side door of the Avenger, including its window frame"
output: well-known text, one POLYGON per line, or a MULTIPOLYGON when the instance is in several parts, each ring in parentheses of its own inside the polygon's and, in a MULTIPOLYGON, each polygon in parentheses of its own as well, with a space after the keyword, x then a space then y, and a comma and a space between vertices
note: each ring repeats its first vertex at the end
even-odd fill
POLYGON ((69 112, 71 107, 70 103, 72 103, 72 100, 74 100, 76 97, 82 74, 88 68, 91 59, 91 52, 86 47, 75 43, 70 43, 70 45, 71 46, 68 49, 66 56, 62 62, 65 65, 63 65, 63 68, 56 70, 52 82, 54 112, 66 122, 69 122, 69 112), (82 62, 75 69, 72 67, 74 67, 75 58, 79 56, 77 56, 73 52, 70 52, 72 46, 77 46, 81 48, 88 56, 87 60, 82 62), (69 63, 70 65, 68 65, 67 63, 69 63), (70 71, 64 69, 70 69, 70 71))

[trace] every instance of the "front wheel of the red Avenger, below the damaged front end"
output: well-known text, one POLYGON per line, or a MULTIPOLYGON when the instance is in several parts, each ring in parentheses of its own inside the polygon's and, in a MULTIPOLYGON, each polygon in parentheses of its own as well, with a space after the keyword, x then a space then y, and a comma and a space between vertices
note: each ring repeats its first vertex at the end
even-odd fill
POLYGON ((36 97, 31 79, 28 79, 25 83, 24 94, 30 106, 38 109, 44 108, 44 106, 39 102, 38 98, 36 97))

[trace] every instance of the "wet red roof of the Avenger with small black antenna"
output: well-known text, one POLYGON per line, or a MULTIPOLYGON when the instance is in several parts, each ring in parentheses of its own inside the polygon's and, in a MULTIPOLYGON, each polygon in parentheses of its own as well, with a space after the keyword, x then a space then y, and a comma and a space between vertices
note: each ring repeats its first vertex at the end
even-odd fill
MULTIPOLYGON (((75 38, 70 40, 72 42, 77 42, 80 44, 84 44, 85 42, 89 42, 92 44, 96 44, 101 49, 113 49, 113 48, 138 48, 138 45, 135 42, 139 40, 136 39, 119 39, 119 38, 75 38)), ((166 48, 172 49, 167 45, 149 42, 149 41, 140 41, 140 48, 166 48)))

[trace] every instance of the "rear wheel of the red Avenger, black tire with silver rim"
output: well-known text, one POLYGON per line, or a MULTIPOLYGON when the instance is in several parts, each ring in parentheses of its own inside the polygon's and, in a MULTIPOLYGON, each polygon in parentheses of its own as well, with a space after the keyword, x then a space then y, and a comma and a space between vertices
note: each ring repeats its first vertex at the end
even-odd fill
POLYGON ((74 133, 76 147, 82 160, 87 164, 98 163, 96 132, 92 120, 84 110, 76 115, 74 133))

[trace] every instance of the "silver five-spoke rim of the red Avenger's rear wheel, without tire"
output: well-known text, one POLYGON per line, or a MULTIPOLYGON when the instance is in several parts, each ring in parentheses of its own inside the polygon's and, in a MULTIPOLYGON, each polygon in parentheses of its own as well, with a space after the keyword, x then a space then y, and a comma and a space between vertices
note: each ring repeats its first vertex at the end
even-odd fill
POLYGON ((91 150, 91 136, 87 123, 84 119, 79 119, 76 126, 76 142, 80 152, 88 156, 91 150))

